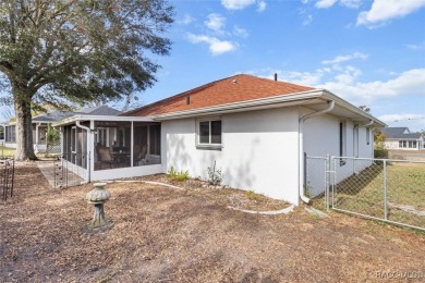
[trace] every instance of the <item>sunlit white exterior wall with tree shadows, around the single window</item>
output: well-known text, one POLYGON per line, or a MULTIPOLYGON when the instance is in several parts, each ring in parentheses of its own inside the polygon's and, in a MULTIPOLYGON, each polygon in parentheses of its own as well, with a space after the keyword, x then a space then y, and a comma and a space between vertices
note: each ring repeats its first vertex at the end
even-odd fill
POLYGON ((223 184, 299 202, 299 113, 279 108, 222 115, 222 149, 196 148, 196 119, 161 124, 162 170, 207 177, 217 162, 223 184))

